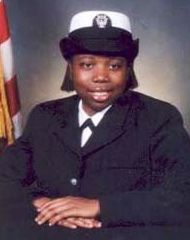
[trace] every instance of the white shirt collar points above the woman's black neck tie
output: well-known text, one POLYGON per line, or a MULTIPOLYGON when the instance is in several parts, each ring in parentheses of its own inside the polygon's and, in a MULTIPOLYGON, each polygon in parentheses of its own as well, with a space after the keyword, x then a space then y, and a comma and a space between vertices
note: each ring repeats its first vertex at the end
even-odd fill
POLYGON ((110 109, 112 105, 109 105, 107 108, 104 108, 102 111, 95 113, 93 116, 89 116, 82 107, 82 100, 79 101, 78 106, 78 120, 79 126, 81 126, 88 118, 91 118, 93 124, 97 126, 99 122, 102 120, 105 113, 110 109))

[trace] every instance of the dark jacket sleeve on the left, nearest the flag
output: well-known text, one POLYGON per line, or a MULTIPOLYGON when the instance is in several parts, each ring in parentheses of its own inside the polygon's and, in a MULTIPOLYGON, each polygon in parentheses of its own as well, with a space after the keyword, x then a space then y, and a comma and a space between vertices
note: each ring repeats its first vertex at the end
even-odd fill
POLYGON ((0 239, 54 239, 48 226, 39 227, 34 219, 32 200, 46 193, 35 184, 33 143, 45 131, 50 117, 41 106, 34 108, 22 136, 0 157, 0 239), (40 237, 41 236, 41 237, 40 237))

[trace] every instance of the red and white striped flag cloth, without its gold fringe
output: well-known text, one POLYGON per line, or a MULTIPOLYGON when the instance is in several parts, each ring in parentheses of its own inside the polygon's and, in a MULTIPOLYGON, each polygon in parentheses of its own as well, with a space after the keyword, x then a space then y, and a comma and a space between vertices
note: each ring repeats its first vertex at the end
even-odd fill
MULTIPOLYGON (((14 72, 11 36, 5 3, 3 0, 0 0, 0 58, 2 63, 2 75, 5 85, 7 106, 13 125, 13 135, 14 138, 18 138, 21 135, 20 101, 17 78, 14 72)), ((3 93, 1 92, 0 97, 2 97, 2 95, 3 93)), ((2 99, 0 100, 2 101, 2 99)), ((6 112, 5 109, 4 112, 6 112)))

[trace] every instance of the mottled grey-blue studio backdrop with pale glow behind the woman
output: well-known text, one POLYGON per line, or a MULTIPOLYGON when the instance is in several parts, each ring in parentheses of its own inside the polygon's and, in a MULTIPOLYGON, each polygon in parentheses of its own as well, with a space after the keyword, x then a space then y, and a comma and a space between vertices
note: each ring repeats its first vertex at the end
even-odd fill
POLYGON ((5 0, 12 30, 23 122, 42 101, 66 96, 60 90, 66 62, 59 40, 73 14, 113 10, 127 14, 140 54, 137 91, 176 105, 190 132, 189 0, 5 0))

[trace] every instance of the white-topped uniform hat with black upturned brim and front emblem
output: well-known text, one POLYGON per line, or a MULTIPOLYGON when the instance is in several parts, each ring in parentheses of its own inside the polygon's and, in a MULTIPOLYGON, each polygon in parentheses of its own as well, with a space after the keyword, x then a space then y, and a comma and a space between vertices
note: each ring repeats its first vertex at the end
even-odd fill
POLYGON ((71 19, 69 35, 60 41, 60 49, 65 59, 89 53, 134 60, 138 55, 138 39, 133 40, 126 15, 112 11, 85 11, 71 19))

